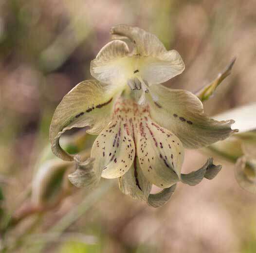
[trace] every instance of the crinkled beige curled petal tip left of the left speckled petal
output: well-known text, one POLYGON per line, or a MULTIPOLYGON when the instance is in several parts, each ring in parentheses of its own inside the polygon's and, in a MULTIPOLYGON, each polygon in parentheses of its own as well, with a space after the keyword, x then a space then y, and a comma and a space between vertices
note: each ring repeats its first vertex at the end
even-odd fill
POLYGON ((94 188, 98 185, 102 170, 93 169, 93 159, 87 159, 85 162, 81 162, 78 155, 74 156, 74 162, 76 166, 75 172, 69 174, 69 180, 78 188, 94 188))

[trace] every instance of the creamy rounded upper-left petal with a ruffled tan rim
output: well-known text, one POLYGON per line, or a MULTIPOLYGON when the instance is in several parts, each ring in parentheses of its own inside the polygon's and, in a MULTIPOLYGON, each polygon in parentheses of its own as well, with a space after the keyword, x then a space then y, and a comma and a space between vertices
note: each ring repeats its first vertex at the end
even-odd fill
MULTIPOLYGON (((121 84, 129 74, 130 54, 128 45, 121 40, 113 40, 105 45, 91 61, 91 75, 104 83, 121 84)), ((132 70, 130 70, 132 73, 132 70)))

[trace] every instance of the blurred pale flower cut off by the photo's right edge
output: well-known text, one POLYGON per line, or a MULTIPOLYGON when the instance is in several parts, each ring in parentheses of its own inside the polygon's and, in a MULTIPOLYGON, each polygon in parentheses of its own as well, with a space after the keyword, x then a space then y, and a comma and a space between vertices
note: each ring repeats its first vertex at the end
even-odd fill
POLYGON ((225 141, 210 145, 209 150, 235 163, 234 172, 238 184, 256 193, 256 103, 235 108, 217 115, 216 119, 231 116, 236 119, 240 132, 225 141))

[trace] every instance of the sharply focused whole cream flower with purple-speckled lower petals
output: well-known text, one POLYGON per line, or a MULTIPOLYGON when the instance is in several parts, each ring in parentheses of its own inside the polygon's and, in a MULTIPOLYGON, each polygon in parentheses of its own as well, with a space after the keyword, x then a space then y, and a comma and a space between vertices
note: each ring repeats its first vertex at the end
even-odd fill
POLYGON ((158 207, 178 181, 195 185, 214 178, 221 168, 208 159, 201 169, 182 174, 184 148, 207 146, 238 130, 231 129, 233 120, 210 119, 191 92, 160 84, 184 69, 176 51, 166 51, 156 36, 140 28, 119 25, 110 33, 114 40, 91 62, 91 74, 98 80, 79 83, 55 110, 52 150, 75 161, 77 170, 69 178, 76 186, 118 178, 123 193, 158 207), (87 133, 98 135, 90 163, 80 162, 59 144, 60 136, 73 127, 88 127, 87 133), (150 194, 152 184, 163 190, 150 194))

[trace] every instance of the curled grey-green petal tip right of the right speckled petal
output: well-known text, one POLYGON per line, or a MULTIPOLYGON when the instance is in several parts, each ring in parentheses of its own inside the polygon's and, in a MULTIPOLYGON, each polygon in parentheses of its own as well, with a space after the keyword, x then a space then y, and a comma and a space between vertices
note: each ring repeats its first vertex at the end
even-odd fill
POLYGON ((197 185, 203 178, 213 179, 217 176, 221 169, 221 165, 214 165, 213 158, 209 158, 207 162, 198 170, 188 174, 181 174, 181 181, 191 186, 197 185))

